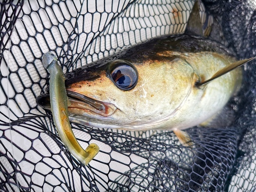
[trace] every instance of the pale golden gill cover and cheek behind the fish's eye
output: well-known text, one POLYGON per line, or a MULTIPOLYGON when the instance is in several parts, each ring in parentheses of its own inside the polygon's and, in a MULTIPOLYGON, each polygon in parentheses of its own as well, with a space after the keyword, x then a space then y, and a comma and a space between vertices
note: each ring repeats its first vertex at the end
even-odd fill
POLYGON ((136 114, 159 120, 170 116, 182 104, 192 86, 194 70, 182 59, 154 61, 137 68, 139 80, 134 88, 136 114))

